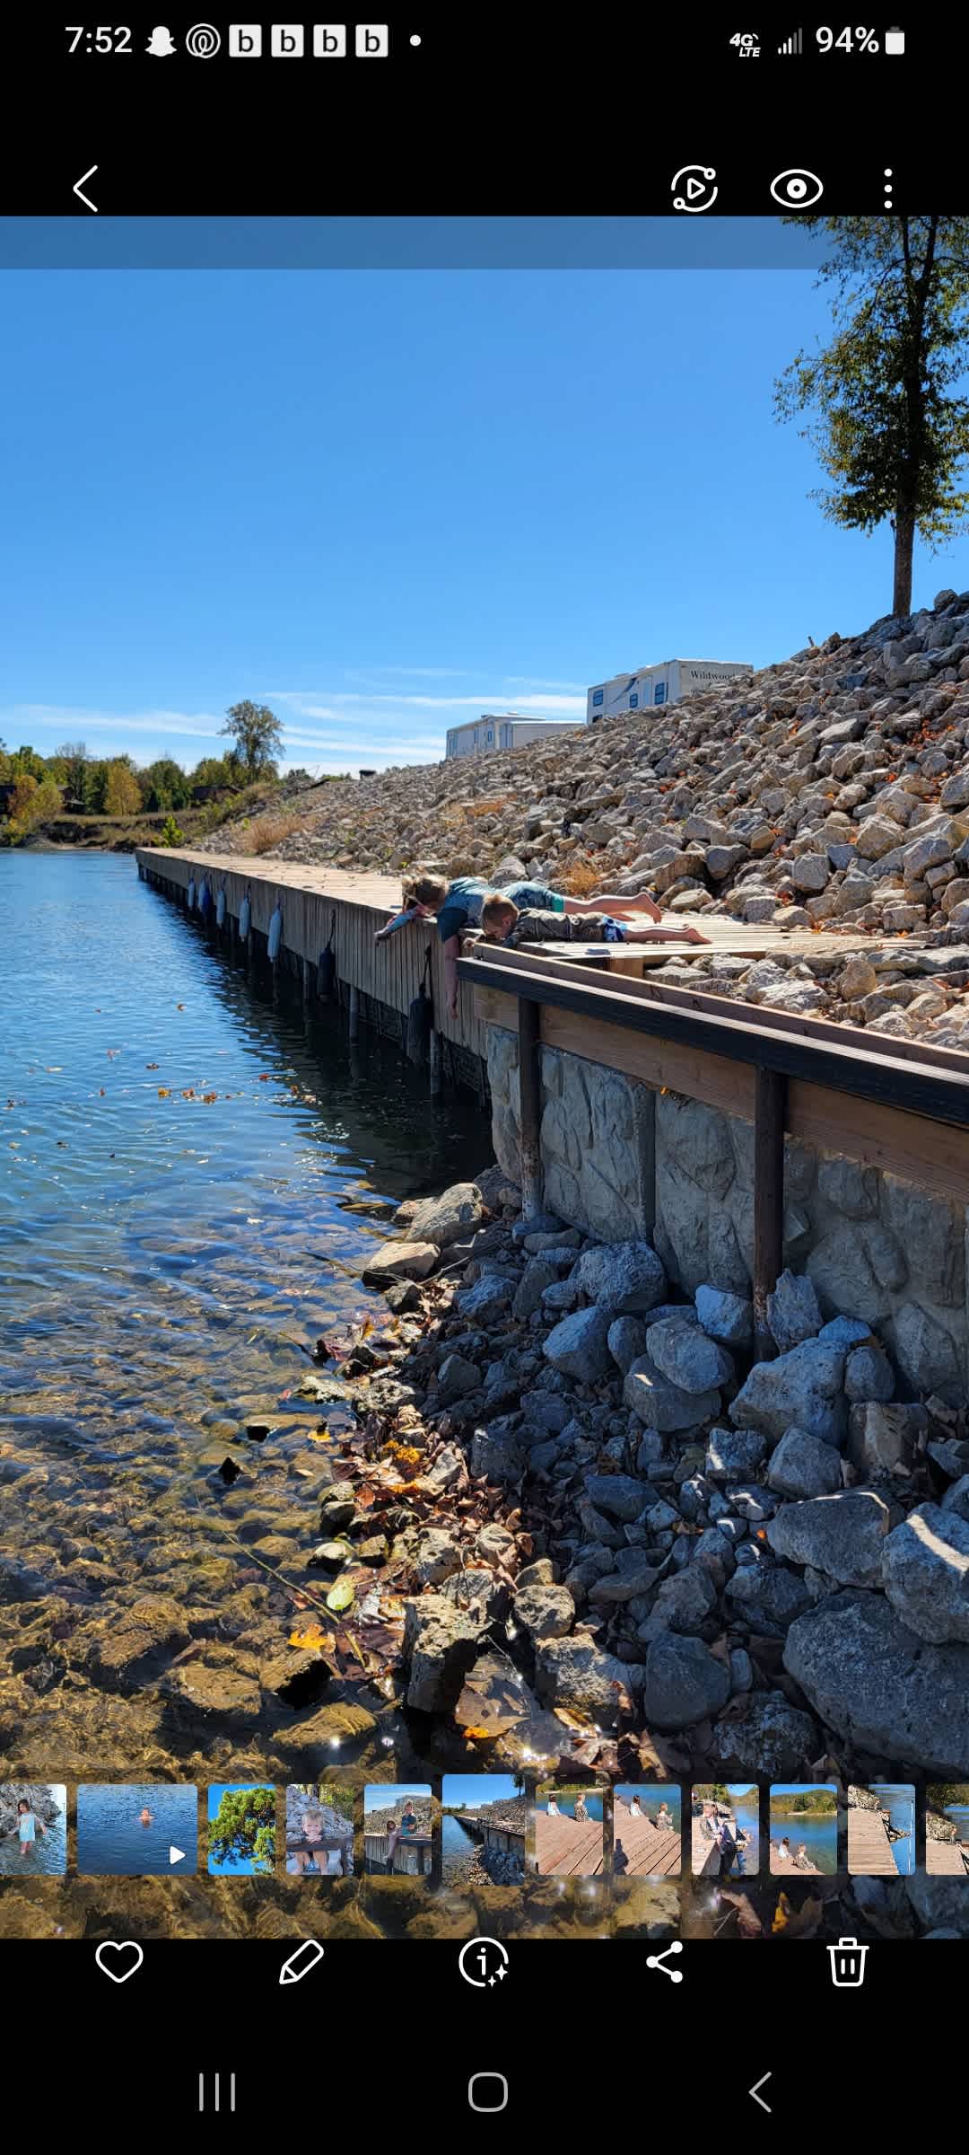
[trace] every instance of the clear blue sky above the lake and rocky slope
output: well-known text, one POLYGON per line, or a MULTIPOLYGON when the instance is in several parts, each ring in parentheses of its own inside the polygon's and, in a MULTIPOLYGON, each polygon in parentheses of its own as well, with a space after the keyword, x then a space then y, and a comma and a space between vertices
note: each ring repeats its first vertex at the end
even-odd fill
MULTIPOLYGON (((0 737, 183 763, 431 761, 655 659, 769 664, 889 610, 889 532, 808 500, 760 272, 0 272, 0 737), (224 746, 224 743, 222 743, 224 746)), ((969 582, 917 550, 915 603, 969 582)))

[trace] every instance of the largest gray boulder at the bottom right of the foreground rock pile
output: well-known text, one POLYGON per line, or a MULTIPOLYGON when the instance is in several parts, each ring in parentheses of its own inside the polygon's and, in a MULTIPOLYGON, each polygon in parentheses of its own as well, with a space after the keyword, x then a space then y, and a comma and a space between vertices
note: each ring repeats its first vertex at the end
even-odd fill
POLYGON ((883 1595, 846 1590, 799 1616, 784 1668, 859 1750, 969 1778, 969 1649, 928 1646, 883 1595))

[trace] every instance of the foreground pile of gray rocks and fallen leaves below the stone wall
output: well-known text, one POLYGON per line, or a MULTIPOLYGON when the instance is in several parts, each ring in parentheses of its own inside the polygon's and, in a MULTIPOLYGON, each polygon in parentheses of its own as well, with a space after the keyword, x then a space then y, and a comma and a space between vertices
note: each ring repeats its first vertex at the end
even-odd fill
POLYGON ((743 1297, 674 1299, 648 1243, 523 1222, 500 1170, 398 1226, 373 1276, 405 1338, 370 1347, 321 1526, 411 1571, 413 1713, 536 1771, 969 1771, 965 1414, 898 1399, 803 1276, 754 1364, 743 1297), (401 1448, 381 1539, 355 1487, 401 1448))

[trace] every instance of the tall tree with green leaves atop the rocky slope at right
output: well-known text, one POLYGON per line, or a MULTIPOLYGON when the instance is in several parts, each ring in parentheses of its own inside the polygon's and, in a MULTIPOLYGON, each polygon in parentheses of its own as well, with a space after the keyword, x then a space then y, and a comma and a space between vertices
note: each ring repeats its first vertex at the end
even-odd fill
POLYGON ((833 336, 799 351, 775 384, 780 418, 803 429, 831 489, 825 515, 848 530, 885 519, 896 537, 891 612, 911 612, 915 532, 930 550, 965 528, 969 455, 969 218, 786 218, 833 244, 818 284, 833 289, 833 336))

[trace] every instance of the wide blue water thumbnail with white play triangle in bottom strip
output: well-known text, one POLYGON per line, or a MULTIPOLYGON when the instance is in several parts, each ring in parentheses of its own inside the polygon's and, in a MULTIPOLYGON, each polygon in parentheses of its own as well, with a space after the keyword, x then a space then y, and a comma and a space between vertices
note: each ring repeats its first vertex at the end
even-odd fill
POLYGON ((179 1877, 198 1868, 198 1789, 86 1782, 78 1789, 78 1871, 179 1877))

